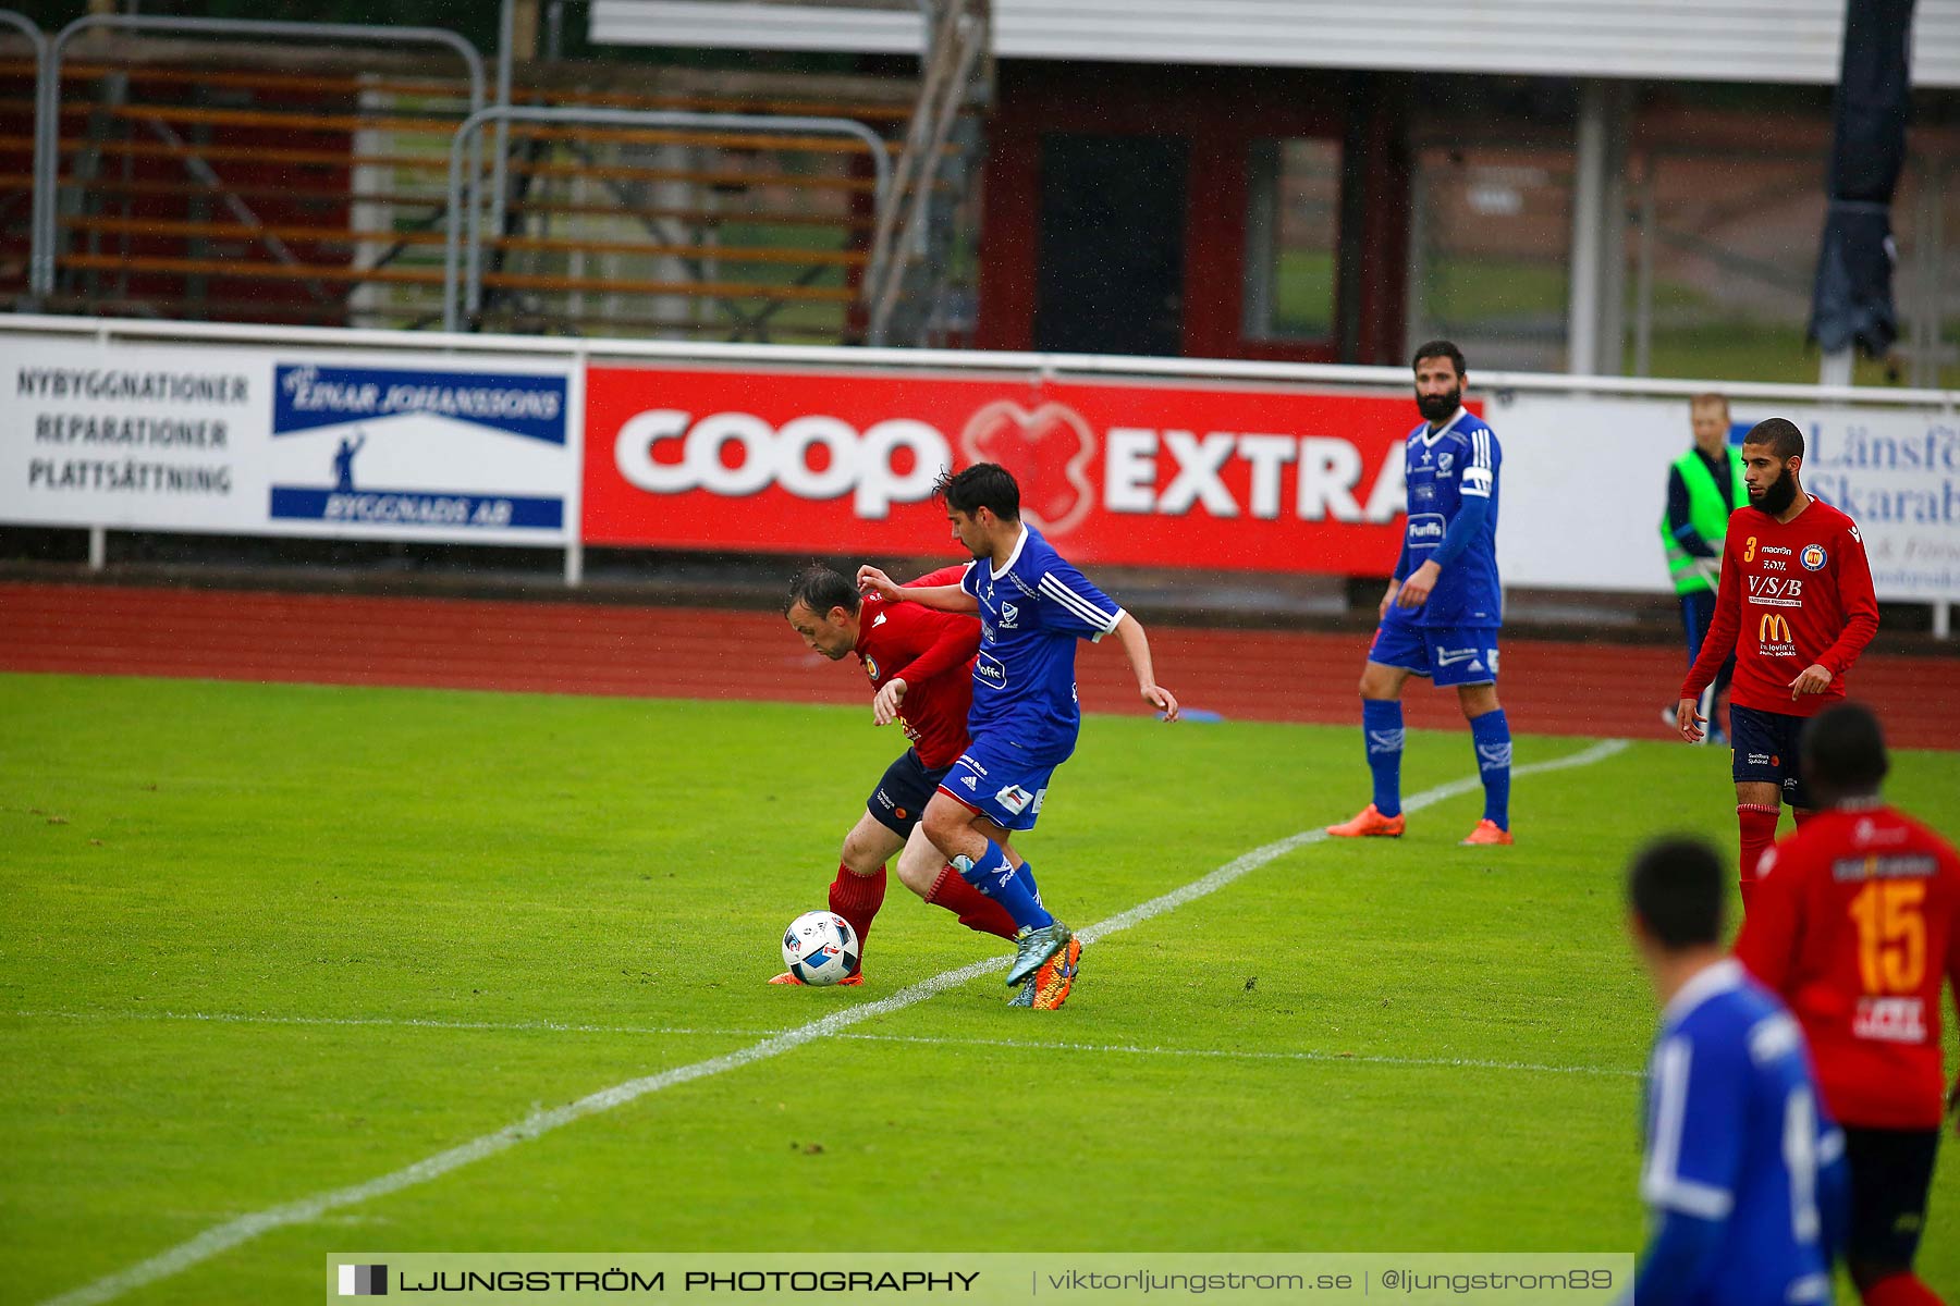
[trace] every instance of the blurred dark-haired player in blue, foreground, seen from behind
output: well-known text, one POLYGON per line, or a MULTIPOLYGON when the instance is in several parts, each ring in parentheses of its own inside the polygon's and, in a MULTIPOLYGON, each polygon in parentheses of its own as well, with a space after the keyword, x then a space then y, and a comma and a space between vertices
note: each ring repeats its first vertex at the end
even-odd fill
POLYGON ((1795 1016, 1723 952, 1721 858, 1701 840, 1658 840, 1635 858, 1627 899, 1662 1003, 1641 1167, 1652 1232, 1627 1300, 1827 1304, 1844 1134, 1795 1016))

